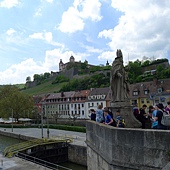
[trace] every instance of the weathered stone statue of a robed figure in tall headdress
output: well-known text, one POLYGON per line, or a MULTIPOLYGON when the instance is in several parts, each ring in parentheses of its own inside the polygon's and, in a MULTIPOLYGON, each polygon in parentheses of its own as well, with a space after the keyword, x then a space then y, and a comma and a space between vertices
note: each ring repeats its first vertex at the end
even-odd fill
POLYGON ((123 65, 123 54, 117 50, 111 69, 111 94, 112 102, 126 102, 129 100, 128 74, 123 65))

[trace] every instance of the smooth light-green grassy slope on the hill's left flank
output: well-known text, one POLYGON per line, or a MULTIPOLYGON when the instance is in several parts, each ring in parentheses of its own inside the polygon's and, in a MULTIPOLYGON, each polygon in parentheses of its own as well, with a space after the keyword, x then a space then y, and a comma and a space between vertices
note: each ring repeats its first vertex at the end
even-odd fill
POLYGON ((47 93, 54 93, 61 89, 61 87, 65 83, 59 83, 59 84, 51 84, 53 80, 47 81, 43 84, 40 84, 38 86, 23 90, 22 92, 30 94, 30 95, 37 95, 37 94, 47 94, 47 93))

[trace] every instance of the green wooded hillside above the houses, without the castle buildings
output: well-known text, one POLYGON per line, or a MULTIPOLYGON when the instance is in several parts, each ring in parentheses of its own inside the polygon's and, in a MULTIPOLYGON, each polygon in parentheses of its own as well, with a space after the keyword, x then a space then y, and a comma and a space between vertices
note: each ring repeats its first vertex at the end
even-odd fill
MULTIPOLYGON (((153 61, 145 61, 142 63, 139 60, 134 62, 129 62, 126 67, 129 76, 130 84, 152 81, 154 78, 165 79, 170 78, 170 67, 167 63, 166 68, 160 63, 168 62, 167 59, 159 60, 159 65, 156 65, 156 72, 151 74, 153 61), (150 74, 144 74, 142 71, 143 67, 147 66, 147 72, 150 74)), ((154 61, 158 62, 158 60, 154 61)), ((75 67, 75 65, 74 65, 75 67)), ((84 67, 83 67, 84 68, 84 67)), ((94 66, 90 68, 87 74, 87 70, 79 68, 79 74, 69 80, 64 74, 58 75, 55 79, 49 80, 48 77, 50 74, 44 73, 41 75, 34 76, 34 79, 37 81, 37 86, 23 90, 24 93, 30 95, 40 95, 55 93, 58 91, 75 91, 75 90, 84 90, 90 88, 101 88, 110 86, 110 69, 111 66, 94 66)))

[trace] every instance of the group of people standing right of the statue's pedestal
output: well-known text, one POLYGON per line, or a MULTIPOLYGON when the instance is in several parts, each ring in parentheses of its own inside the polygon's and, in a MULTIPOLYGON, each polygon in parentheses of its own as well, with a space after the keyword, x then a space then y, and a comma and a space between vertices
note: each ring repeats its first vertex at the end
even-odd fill
POLYGON ((162 118, 164 113, 170 115, 170 101, 167 102, 166 107, 162 103, 158 103, 155 106, 149 106, 148 112, 146 108, 145 104, 140 109, 136 106, 133 108, 133 114, 141 122, 142 129, 146 129, 146 124, 148 123, 150 124, 149 128, 152 129, 169 129, 168 126, 162 124, 162 118))

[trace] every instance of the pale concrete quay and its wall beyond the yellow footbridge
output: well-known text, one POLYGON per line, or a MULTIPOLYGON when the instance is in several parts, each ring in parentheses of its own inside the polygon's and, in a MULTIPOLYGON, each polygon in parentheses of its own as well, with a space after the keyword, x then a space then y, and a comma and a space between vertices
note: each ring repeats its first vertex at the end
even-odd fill
MULTIPOLYGON (((43 129, 43 136, 46 137, 47 129, 43 129)), ((32 140, 42 138, 42 129, 39 128, 16 128, 13 132, 11 129, 0 128, 0 135, 17 138, 21 140, 32 140)), ((85 143, 86 134, 80 132, 64 131, 50 129, 50 138, 65 136, 73 138, 73 143, 68 147, 68 160, 83 166, 87 166, 87 146, 85 143)))

